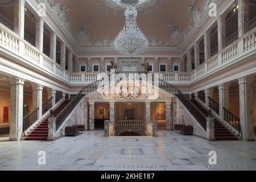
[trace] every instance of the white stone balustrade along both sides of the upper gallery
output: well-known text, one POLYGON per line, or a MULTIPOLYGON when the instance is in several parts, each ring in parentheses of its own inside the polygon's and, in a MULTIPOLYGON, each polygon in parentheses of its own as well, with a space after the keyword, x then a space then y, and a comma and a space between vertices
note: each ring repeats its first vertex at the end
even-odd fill
MULTIPOLYGON (((238 61, 240 57, 244 57, 247 53, 255 53, 255 34, 256 28, 253 28, 222 51, 213 55, 191 73, 159 73, 159 78, 170 84, 190 84, 193 81, 205 78, 211 73, 225 68, 226 65, 238 61)), ((51 75, 55 75, 71 84, 90 84, 97 80, 98 73, 69 73, 2 23, 0 23, 0 47, 23 57, 24 62, 32 63, 39 69, 43 68, 51 75)))

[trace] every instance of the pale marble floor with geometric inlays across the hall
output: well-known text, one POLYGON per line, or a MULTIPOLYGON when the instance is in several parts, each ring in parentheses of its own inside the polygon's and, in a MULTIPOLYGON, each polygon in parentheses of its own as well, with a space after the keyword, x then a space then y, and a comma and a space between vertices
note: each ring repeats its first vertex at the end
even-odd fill
POLYGON ((0 170, 256 170, 256 143, 208 142, 160 131, 159 137, 103 137, 103 131, 85 131, 54 142, 0 142, 0 170), (38 152, 46 152, 46 165, 38 152), (209 165, 209 151, 217 164, 209 165))

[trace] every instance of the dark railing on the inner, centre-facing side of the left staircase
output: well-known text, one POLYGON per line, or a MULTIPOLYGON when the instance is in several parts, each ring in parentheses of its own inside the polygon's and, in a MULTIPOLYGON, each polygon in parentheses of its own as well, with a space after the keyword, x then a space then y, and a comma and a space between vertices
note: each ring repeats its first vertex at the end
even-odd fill
POLYGON ((71 102, 60 112, 56 117, 56 131, 60 128, 60 126, 64 123, 64 121, 68 118, 69 114, 75 109, 77 104, 82 100, 82 98, 91 92, 97 90, 98 85, 103 81, 101 80, 94 81, 92 84, 86 85, 82 90, 73 98, 71 102))

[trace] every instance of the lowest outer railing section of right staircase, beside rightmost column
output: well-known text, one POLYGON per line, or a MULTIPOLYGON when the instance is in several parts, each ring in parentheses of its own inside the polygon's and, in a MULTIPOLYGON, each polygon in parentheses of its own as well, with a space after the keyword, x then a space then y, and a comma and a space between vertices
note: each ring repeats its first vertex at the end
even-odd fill
POLYGON ((236 129, 242 137, 240 118, 231 113, 228 109, 223 107, 224 120, 229 123, 234 129, 236 129))

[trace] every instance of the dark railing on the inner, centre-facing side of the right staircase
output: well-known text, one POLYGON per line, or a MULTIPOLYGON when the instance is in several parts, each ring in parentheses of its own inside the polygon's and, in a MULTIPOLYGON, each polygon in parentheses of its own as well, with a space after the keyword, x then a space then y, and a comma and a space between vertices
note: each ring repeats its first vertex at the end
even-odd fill
POLYGON ((186 96, 184 96, 184 94, 181 93, 180 90, 176 88, 176 86, 159 79, 159 88, 177 96, 181 103, 193 115, 199 125, 201 125, 201 127, 203 127, 205 131, 207 130, 207 118, 205 117, 205 115, 186 96))

